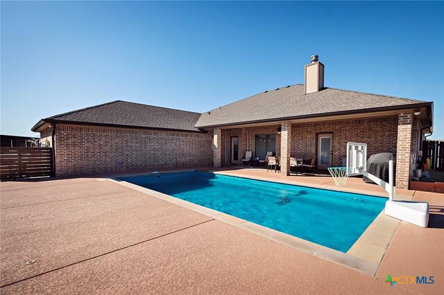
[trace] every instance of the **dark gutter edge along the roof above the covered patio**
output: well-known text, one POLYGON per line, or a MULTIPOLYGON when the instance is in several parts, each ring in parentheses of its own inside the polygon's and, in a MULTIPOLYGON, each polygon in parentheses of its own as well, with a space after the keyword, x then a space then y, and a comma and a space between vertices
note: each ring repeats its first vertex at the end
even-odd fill
MULTIPOLYGON (((330 113, 323 114, 308 114, 303 116, 289 116, 282 118, 269 118, 264 120, 250 120, 244 122, 232 122, 225 124, 217 124, 217 125, 205 125, 205 126, 196 126, 197 128, 210 128, 210 127, 225 127, 230 125, 246 125, 246 124, 254 124, 254 123, 268 123, 282 120, 296 120, 296 119, 307 119, 307 118, 321 118, 326 116, 341 116, 341 115, 349 115, 349 114, 361 114, 361 113, 375 113, 378 111, 394 111, 400 109, 413 109, 416 107, 431 107, 433 102, 420 102, 413 105, 396 105, 391 107, 373 107, 371 109, 352 109, 350 111, 332 111, 330 113)), ((207 113, 204 113, 207 114, 207 113)))

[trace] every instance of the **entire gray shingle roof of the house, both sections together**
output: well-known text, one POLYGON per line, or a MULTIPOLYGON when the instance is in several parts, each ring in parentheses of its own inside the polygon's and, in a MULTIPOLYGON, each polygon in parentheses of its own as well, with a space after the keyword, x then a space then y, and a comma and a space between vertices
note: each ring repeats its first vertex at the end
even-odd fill
POLYGON ((379 109, 400 109, 429 104, 423 100, 382 96, 334 88, 304 94, 295 84, 258 93, 203 114, 179 109, 116 100, 103 105, 69 111, 40 120, 44 122, 92 123, 125 127, 146 127, 198 132, 198 128, 290 118, 321 117, 344 113, 366 113, 379 109))

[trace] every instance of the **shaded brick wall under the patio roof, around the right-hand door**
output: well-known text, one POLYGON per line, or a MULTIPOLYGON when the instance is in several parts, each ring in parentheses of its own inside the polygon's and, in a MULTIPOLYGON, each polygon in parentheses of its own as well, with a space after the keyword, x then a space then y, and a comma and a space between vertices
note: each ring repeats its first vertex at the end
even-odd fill
POLYGON ((342 166, 348 141, 367 143, 367 157, 396 152, 398 116, 293 124, 291 156, 316 157, 318 134, 333 134, 332 164, 342 166))

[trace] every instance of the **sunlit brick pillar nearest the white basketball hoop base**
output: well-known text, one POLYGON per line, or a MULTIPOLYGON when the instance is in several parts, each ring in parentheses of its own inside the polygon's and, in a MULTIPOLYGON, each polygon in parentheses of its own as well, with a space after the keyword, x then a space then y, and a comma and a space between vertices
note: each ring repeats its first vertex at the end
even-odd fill
POLYGON ((396 145, 396 180, 397 188, 409 189, 411 159, 411 127, 413 114, 398 116, 398 143, 396 145))

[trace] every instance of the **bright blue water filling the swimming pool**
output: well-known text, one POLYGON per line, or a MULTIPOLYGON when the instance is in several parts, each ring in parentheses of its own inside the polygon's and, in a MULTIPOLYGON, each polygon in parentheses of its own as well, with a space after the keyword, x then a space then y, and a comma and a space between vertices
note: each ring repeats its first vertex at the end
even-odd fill
POLYGON ((121 177, 145 188, 346 252, 386 199, 302 186, 180 172, 121 177))

